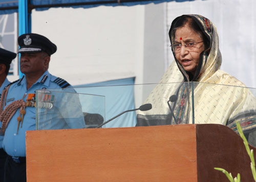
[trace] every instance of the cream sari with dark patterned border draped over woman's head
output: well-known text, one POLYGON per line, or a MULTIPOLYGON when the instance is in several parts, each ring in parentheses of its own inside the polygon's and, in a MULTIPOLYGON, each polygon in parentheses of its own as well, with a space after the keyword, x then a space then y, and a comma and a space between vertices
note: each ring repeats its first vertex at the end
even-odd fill
POLYGON ((201 15, 177 17, 169 31, 171 44, 174 43, 173 27, 184 16, 197 22, 209 41, 209 47, 200 54, 194 76, 184 70, 174 54, 175 61, 144 101, 152 103, 152 109, 138 112, 137 126, 215 123, 238 132, 238 121, 244 134, 251 135, 249 142, 255 145, 256 99, 242 82, 220 70, 222 56, 215 25, 201 15), (177 99, 169 101, 168 106, 167 101, 173 95, 177 99))

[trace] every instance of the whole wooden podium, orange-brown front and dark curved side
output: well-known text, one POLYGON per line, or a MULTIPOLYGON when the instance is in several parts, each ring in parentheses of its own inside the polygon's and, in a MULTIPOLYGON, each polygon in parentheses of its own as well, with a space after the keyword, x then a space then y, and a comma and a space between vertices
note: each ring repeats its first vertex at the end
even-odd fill
POLYGON ((218 124, 27 131, 26 149, 27 181, 229 181, 214 167, 253 181, 243 140, 218 124))

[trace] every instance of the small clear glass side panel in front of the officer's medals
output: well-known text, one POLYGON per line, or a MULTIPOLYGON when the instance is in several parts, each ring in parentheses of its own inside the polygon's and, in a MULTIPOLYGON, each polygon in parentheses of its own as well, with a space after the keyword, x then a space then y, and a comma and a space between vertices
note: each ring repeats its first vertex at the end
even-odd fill
POLYGON ((74 89, 36 91, 37 130, 92 128, 104 118, 104 96, 76 93, 74 89))

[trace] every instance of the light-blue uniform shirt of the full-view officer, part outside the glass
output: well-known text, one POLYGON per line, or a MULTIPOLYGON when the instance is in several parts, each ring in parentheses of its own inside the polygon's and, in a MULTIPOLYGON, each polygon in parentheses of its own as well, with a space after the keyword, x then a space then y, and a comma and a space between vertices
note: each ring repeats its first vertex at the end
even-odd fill
MULTIPOLYGON (((24 94, 26 94, 24 101, 28 97, 28 94, 35 94, 38 89, 57 89, 68 86, 68 83, 62 79, 58 79, 56 76, 51 75, 48 71, 41 75, 41 77, 27 90, 26 76, 18 82, 12 84, 9 88, 6 106, 15 100, 22 99, 24 94), (57 82, 60 80, 60 82, 57 82), (62 85, 61 85, 62 84, 62 85)), ((70 86, 68 86, 70 87, 70 86)), ((68 110, 68 108, 67 108, 68 110)), ((26 107, 26 114, 24 115, 23 125, 18 129, 17 134, 17 117, 19 116, 19 109, 15 112, 11 118, 3 140, 4 150, 13 157, 26 157, 26 131, 31 131, 36 129, 36 109, 35 107, 26 107)), ((84 120, 80 118, 76 122, 76 128, 84 128, 84 120)), ((74 127, 73 127, 74 128, 74 127)))

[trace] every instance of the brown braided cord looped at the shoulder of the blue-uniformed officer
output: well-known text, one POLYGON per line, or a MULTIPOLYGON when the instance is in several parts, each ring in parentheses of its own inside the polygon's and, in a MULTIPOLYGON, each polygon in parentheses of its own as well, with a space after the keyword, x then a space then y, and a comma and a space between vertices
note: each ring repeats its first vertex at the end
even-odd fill
POLYGON ((17 109, 20 108, 19 109, 20 110, 19 113, 20 113, 22 110, 25 110, 25 107, 26 107, 26 102, 23 100, 23 98, 26 95, 24 95, 22 99, 15 100, 12 103, 10 103, 10 105, 8 105, 5 108, 5 110, 3 111, 4 104, 6 106, 6 96, 7 96, 9 88, 10 88, 10 85, 3 91, 2 97, 0 100, 0 121, 2 121, 2 128, 1 128, 0 132, 2 134, 5 134, 6 127, 9 123, 9 121, 11 120, 12 116, 17 111, 17 109))

